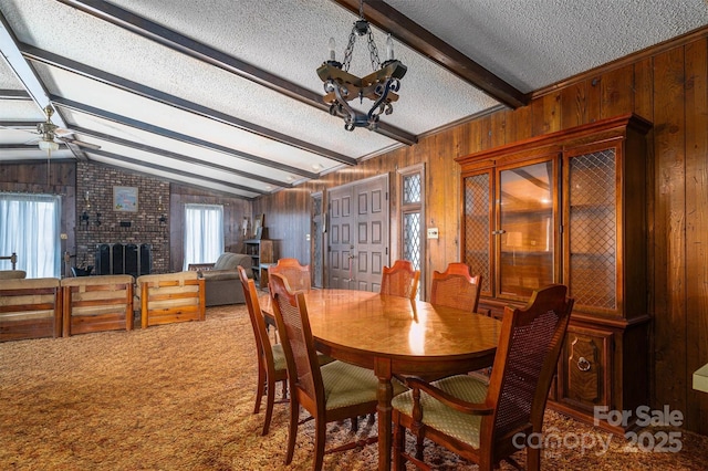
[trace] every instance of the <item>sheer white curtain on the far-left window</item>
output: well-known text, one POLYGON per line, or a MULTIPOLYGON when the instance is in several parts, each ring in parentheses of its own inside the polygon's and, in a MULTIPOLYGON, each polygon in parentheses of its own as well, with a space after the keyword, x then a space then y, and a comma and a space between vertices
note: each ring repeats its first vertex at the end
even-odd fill
MULTIPOLYGON (((0 255, 17 253, 17 269, 27 278, 60 278, 60 218, 59 196, 0 193, 0 255)), ((10 262, 0 261, 0 268, 10 269, 10 262)))

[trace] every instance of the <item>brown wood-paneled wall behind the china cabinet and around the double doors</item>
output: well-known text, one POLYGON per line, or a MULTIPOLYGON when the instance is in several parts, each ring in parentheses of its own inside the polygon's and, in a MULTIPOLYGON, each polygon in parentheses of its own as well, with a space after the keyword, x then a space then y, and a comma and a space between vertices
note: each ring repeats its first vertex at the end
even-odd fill
POLYGON ((654 123, 648 137, 647 296, 654 317, 649 406, 680 410, 685 428, 708 435, 708 395, 691 387, 693 371, 708 363, 707 63, 708 29, 704 29, 539 91, 523 108, 499 111, 427 136, 415 146, 262 197, 254 201, 254 212, 266 213, 270 237, 279 240, 279 257, 306 261, 310 195, 389 171, 395 259, 399 253, 395 169, 423 163, 426 226, 439 228, 439 239, 426 240, 424 270, 429 273, 460 257, 461 202, 455 157, 636 113, 654 123))

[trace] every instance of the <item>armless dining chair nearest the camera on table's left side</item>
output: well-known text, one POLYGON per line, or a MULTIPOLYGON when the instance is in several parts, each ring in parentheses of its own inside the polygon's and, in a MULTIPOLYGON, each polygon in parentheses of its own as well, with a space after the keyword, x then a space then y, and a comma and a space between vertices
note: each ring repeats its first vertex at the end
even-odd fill
MULTIPOLYGON (((376 411, 378 379, 371 369, 334 360, 320 366, 316 360, 314 339, 310 327, 308 306, 303 291, 292 291, 280 274, 270 276, 268 284, 273 314, 288 365, 290 385, 290 427, 285 464, 292 462, 300 407, 315 421, 315 453, 313 469, 322 469, 324 454, 351 450, 374 443, 377 437, 367 437, 344 443, 325 452, 326 425, 332 421, 353 419, 376 411)), ((393 381, 394 395, 405 388, 393 381)))

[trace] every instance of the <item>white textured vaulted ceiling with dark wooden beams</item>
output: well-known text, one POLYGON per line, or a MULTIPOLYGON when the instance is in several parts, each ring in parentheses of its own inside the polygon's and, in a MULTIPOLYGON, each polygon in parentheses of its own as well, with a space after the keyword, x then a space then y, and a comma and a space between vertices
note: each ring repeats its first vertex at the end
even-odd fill
MULTIPOLYGON (((364 1, 408 72, 376 130, 315 70, 358 0, 0 0, 0 165, 79 159, 247 199, 355 166, 708 24, 706 0, 364 1)), ((383 56, 383 53, 382 53, 383 56)), ((372 72, 360 39, 350 69, 372 72)))

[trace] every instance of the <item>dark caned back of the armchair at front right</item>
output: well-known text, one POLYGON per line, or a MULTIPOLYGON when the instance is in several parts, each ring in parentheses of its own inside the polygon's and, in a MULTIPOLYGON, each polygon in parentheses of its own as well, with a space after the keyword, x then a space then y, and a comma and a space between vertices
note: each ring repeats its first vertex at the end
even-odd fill
POLYGON ((541 430, 573 308, 566 292, 564 285, 550 285, 535 291, 527 307, 506 307, 487 396, 493 412, 482 418, 480 449, 508 442, 512 431, 541 430))

